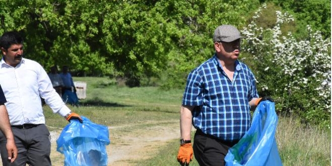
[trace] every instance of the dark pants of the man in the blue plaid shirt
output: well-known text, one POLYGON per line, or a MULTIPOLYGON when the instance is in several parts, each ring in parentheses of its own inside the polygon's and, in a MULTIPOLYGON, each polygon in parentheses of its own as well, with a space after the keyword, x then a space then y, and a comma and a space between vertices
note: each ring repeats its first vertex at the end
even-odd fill
POLYGON ((224 158, 228 153, 228 149, 235 145, 238 141, 225 142, 212 136, 204 134, 200 130, 196 130, 194 137, 194 155, 201 166, 221 166, 225 165, 224 158))

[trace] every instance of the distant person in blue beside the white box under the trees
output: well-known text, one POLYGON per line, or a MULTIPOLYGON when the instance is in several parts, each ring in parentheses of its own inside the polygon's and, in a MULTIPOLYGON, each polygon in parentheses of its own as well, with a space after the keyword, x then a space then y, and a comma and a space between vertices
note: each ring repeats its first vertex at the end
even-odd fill
POLYGON ((60 73, 62 78, 64 88, 62 90, 62 99, 73 106, 78 106, 78 97, 76 94, 76 87, 74 81, 72 80, 71 74, 68 72, 68 66, 62 67, 62 72, 60 73))

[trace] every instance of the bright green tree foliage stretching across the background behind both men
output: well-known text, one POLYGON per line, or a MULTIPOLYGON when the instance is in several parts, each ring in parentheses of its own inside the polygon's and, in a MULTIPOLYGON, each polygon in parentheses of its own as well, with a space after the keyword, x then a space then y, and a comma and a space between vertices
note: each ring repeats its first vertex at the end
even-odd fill
POLYGON ((188 72, 211 56, 211 34, 218 25, 243 26, 245 14, 259 5, 223 0, 0 2, 0 33, 20 31, 27 58, 46 70, 69 65, 78 75, 114 76, 129 86, 139 86, 143 77, 160 77, 170 65, 188 72))

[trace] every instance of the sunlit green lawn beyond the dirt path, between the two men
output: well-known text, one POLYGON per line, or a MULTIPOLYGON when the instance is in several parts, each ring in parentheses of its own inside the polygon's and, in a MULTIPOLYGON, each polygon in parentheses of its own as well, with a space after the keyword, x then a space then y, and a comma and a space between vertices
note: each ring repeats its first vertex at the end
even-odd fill
MULTIPOLYGON (((87 82, 87 98, 80 100, 81 107, 68 107, 95 123, 117 126, 149 120, 179 119, 182 90, 161 91, 156 87, 119 88, 107 84, 112 80, 105 77, 74 77, 74 81, 87 82)), ((67 121, 53 114, 48 106, 44 106, 44 110, 48 126, 67 125, 67 121)))

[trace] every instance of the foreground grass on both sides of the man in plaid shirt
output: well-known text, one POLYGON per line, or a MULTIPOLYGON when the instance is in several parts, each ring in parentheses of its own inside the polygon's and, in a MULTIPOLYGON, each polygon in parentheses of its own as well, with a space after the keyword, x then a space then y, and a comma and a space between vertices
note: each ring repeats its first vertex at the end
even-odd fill
MULTIPOLYGON (((193 135, 194 133, 192 133, 193 135)), ((329 131, 318 131, 314 127, 302 128, 292 118, 279 118, 276 132, 279 155, 284 166, 330 166, 331 137, 329 131)), ((136 165, 179 165, 176 161, 179 140, 170 141, 160 147, 152 159, 138 161, 136 165)), ((190 165, 198 165, 194 160, 190 165)))

